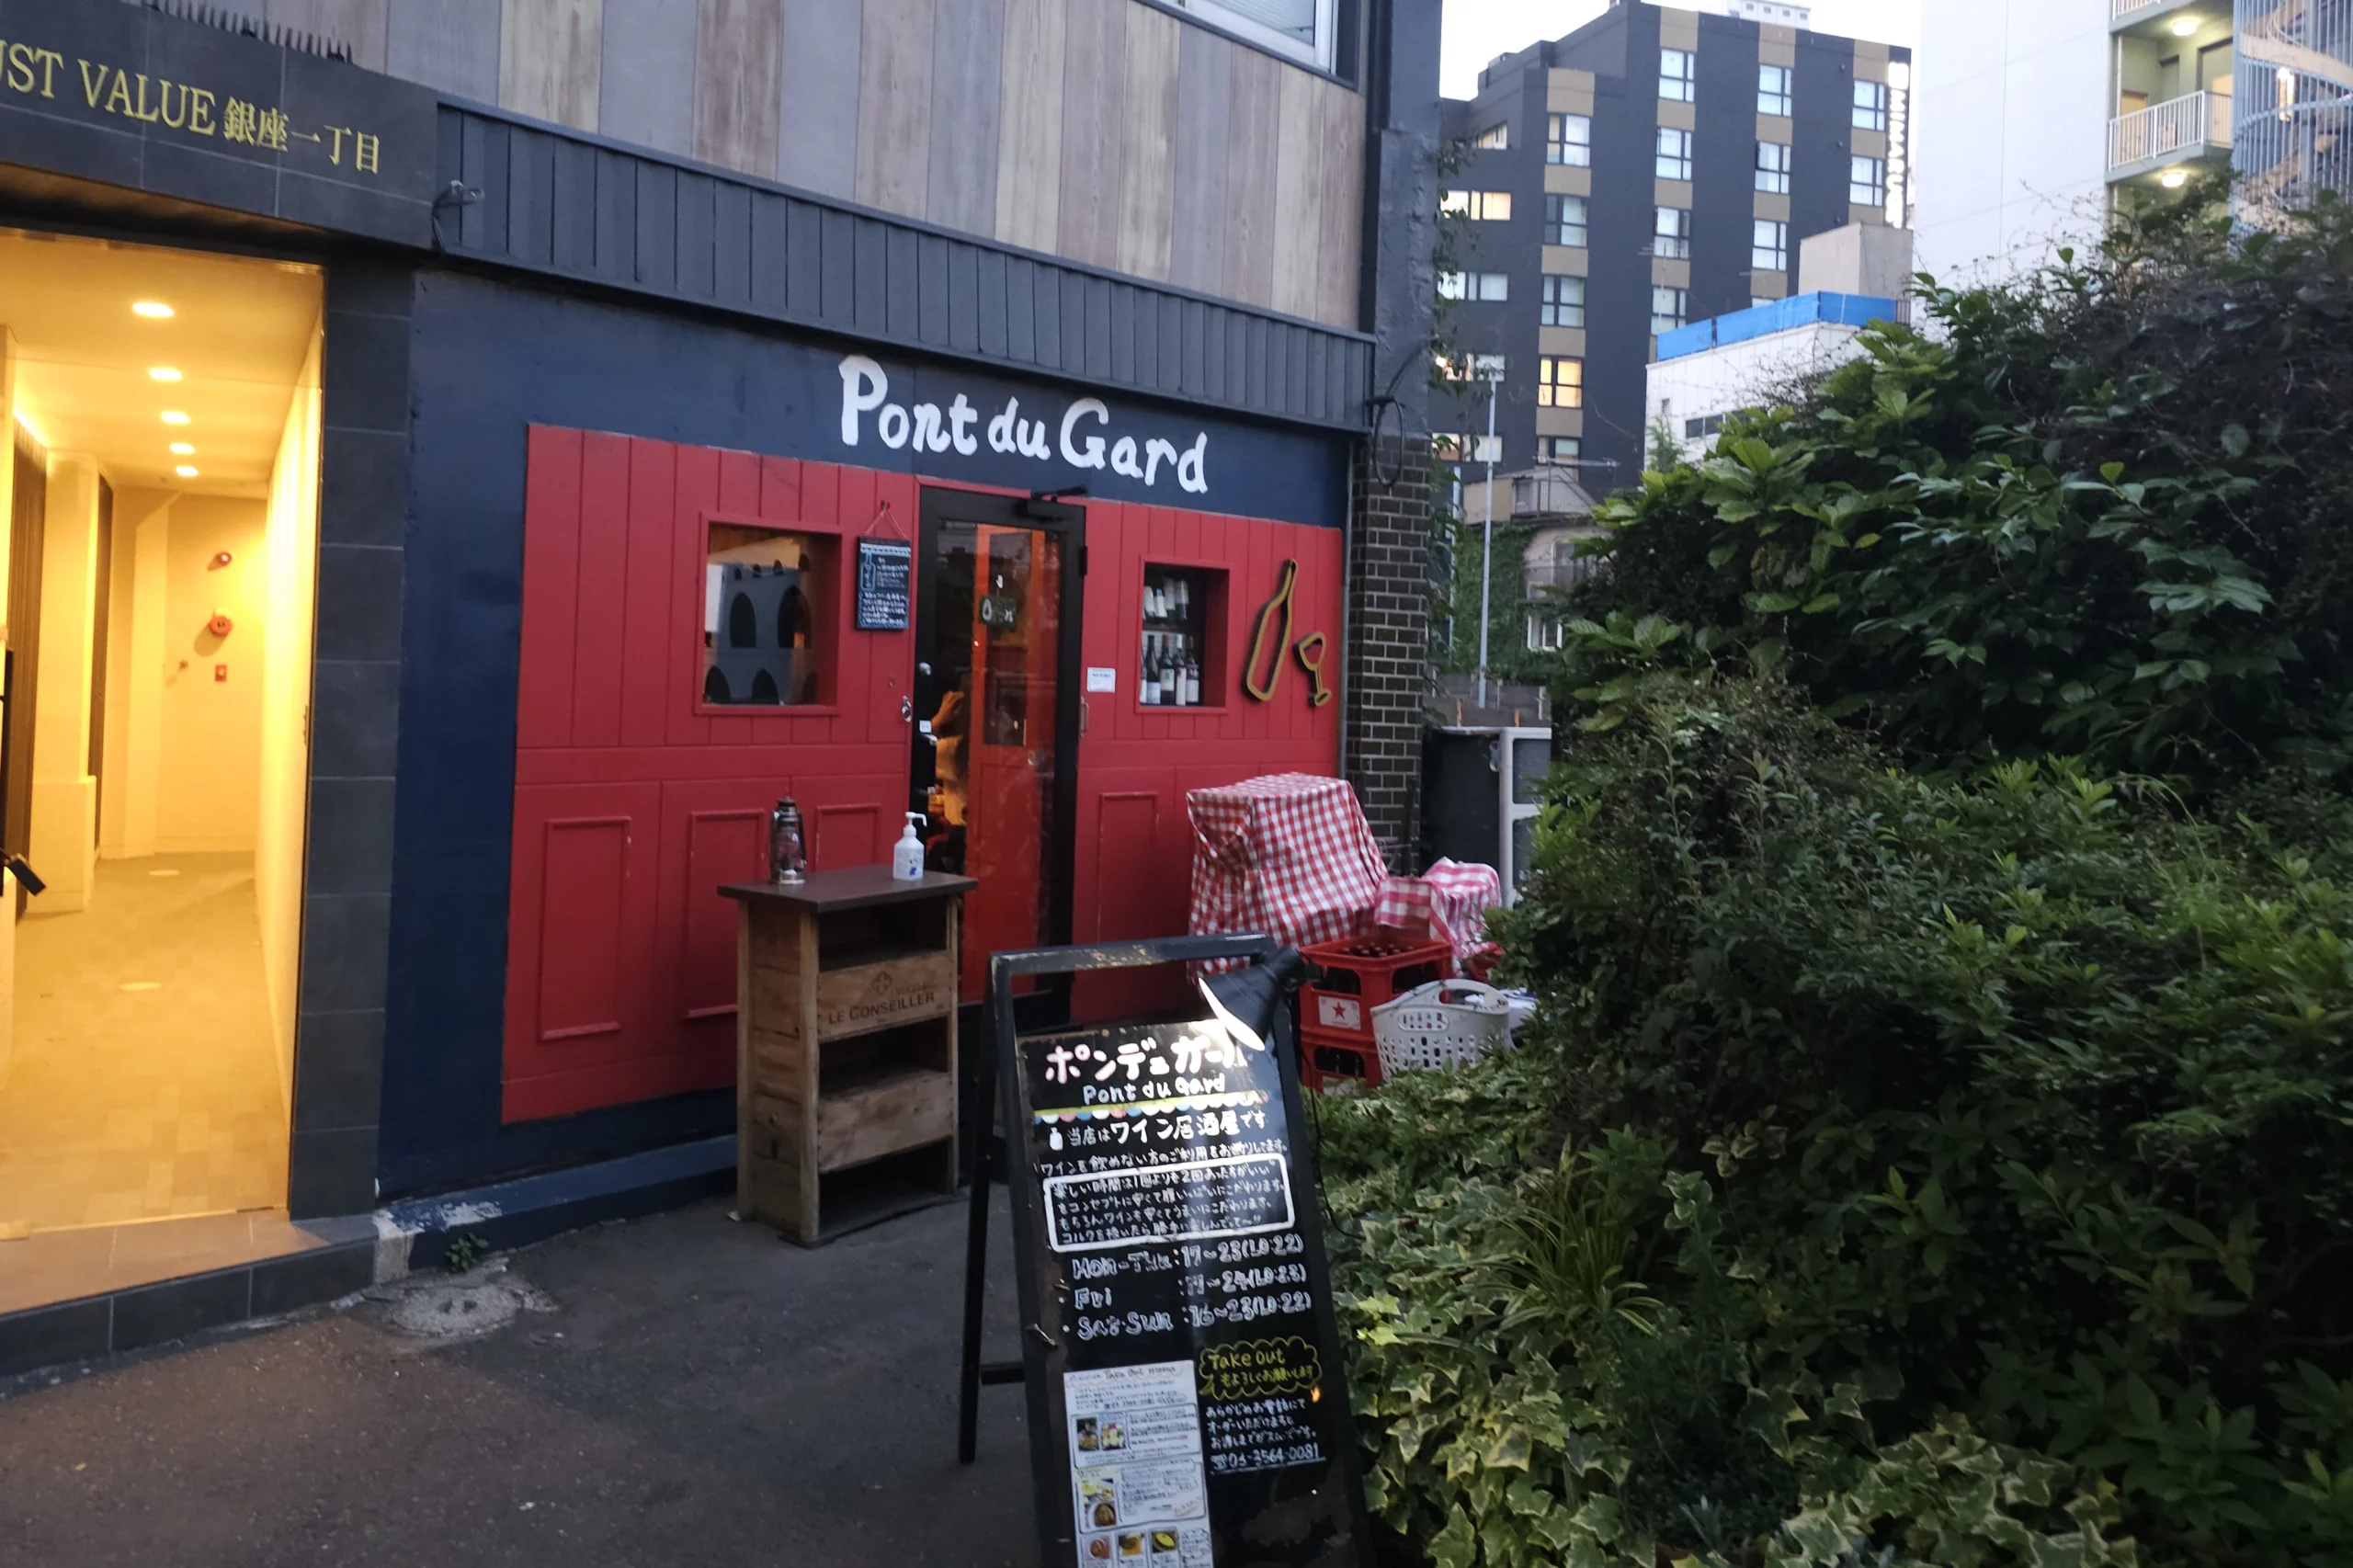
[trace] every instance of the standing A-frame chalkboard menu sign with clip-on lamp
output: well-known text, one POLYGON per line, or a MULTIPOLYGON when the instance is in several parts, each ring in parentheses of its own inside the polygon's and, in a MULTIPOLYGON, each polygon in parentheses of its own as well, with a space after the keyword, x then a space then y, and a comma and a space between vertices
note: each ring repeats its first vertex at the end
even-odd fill
POLYGON ((1273 951, 1176 937, 991 961, 1024 1366, 979 1361, 974 1220, 962 1453, 979 1384, 1026 1382, 1049 1568, 1372 1561, 1287 1008, 1014 1029, 1021 975, 1273 951))

